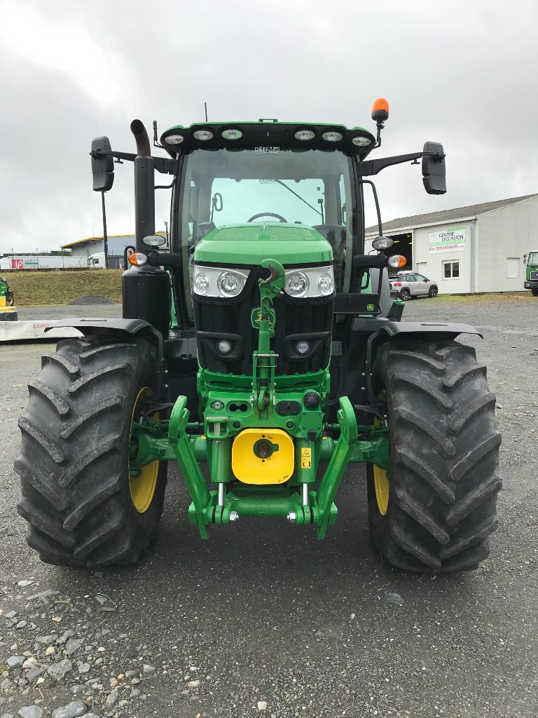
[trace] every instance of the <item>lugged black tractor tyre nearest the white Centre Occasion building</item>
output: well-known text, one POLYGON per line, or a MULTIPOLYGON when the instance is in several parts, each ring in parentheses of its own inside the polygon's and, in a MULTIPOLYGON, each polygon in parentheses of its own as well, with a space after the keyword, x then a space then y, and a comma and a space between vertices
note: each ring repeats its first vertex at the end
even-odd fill
POLYGON ((374 384, 386 394, 387 475, 367 467, 369 527, 400 569, 475 569, 496 529, 500 434, 486 368, 458 342, 385 344, 374 384))

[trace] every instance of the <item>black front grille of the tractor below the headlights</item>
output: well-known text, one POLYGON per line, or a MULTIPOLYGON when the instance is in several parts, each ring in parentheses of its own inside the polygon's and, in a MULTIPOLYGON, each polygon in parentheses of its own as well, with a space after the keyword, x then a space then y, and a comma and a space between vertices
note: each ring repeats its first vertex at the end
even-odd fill
MULTIPOLYGON (((203 368, 220 373, 252 374, 258 330, 251 325, 251 314, 260 306, 260 271, 261 268, 250 271, 238 298, 192 294, 198 360, 203 368), (232 342, 234 348, 230 355, 217 352, 220 339, 232 342)), ((277 373, 304 374, 326 368, 331 355, 334 294, 316 299, 291 299, 285 295, 277 297, 274 306, 276 326, 271 348, 278 354, 277 373), (304 357, 294 349, 299 340, 311 345, 311 351, 304 357)))

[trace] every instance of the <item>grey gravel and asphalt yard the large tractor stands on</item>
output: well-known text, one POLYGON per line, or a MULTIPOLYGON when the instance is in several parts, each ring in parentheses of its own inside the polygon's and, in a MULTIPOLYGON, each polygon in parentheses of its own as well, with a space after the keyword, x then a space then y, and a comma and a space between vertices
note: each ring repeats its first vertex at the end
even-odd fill
MULTIPOLYGON (((80 307, 106 310, 119 313, 80 307)), ((534 718, 537 310, 529 297, 405 308, 407 319, 482 327, 483 341, 464 341, 498 397, 499 530, 488 561, 452 577, 381 566, 361 467, 346 475, 339 521, 321 544, 298 527, 247 520, 202 542, 171 469, 160 536, 138 567, 41 564, 16 516, 11 467, 26 382, 52 346, 1 346, 0 718, 534 718)), ((72 308, 46 311, 28 318, 72 308)))

